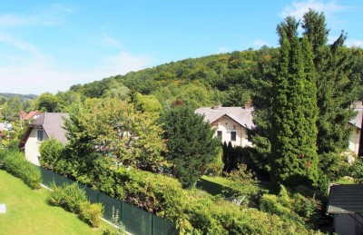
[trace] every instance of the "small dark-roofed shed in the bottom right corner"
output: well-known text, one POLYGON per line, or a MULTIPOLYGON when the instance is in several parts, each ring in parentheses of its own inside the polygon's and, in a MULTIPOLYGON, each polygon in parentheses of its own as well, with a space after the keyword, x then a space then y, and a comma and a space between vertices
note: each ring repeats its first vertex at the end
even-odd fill
POLYGON ((328 213, 337 234, 363 234, 363 184, 332 185, 328 213))

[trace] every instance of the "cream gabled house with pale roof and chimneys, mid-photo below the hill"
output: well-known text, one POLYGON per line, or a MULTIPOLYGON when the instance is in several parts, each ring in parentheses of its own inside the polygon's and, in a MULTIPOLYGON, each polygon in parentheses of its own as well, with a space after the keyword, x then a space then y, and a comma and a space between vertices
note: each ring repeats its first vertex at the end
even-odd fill
POLYGON ((252 122, 253 107, 246 103, 244 107, 202 107, 195 111, 205 115, 205 121, 216 129, 215 136, 221 142, 231 142, 232 146, 252 146, 248 130, 254 127, 252 122))

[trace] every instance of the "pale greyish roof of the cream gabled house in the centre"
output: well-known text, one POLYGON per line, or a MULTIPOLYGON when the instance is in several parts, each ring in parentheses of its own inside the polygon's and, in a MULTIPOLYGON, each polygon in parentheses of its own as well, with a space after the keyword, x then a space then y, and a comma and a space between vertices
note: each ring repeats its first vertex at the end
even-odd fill
POLYGON ((253 128, 255 125, 252 119, 253 109, 245 109, 241 107, 202 107, 195 111, 195 113, 204 114, 205 121, 215 122, 222 116, 228 116, 241 126, 248 129, 253 128))

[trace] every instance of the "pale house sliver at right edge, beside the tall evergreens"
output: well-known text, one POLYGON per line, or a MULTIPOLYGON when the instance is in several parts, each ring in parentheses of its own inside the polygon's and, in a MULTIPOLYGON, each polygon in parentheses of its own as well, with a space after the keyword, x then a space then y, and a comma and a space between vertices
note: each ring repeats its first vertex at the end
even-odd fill
POLYGON ((349 150, 359 154, 359 142, 362 128, 362 118, 363 118, 363 105, 362 102, 355 102, 353 104, 357 115, 348 122, 348 126, 353 129, 353 132, 349 139, 349 150))

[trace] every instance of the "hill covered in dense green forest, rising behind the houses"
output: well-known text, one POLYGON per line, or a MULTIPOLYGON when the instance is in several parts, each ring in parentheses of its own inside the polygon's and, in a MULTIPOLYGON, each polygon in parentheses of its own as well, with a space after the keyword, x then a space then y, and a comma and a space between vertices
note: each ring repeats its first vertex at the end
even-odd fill
MULTIPOLYGON (((250 100, 256 82, 266 77, 262 74, 272 67, 277 53, 277 49, 264 46, 260 50, 189 58, 102 81, 77 84, 69 92, 81 93, 90 98, 121 99, 131 93, 141 93, 142 97, 157 100, 163 107, 176 100, 194 107, 214 103, 241 106, 250 100)), ((347 48, 347 56, 354 61, 354 73, 363 71, 362 54, 362 49, 347 48)), ((362 95, 357 94, 357 98, 362 98, 362 95)))

